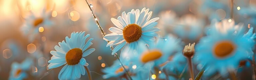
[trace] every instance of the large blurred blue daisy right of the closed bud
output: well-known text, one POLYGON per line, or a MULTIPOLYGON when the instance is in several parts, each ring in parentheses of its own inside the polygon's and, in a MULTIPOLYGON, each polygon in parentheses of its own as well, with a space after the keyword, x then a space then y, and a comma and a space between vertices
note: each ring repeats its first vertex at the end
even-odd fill
MULTIPOLYGON (((252 34, 251 30, 248 33, 252 34)), ((225 76, 228 71, 236 70, 241 60, 252 57, 252 41, 243 36, 242 28, 236 32, 233 26, 223 33, 217 27, 211 27, 210 33, 195 47, 194 59, 208 68, 205 75, 219 72, 225 76)))

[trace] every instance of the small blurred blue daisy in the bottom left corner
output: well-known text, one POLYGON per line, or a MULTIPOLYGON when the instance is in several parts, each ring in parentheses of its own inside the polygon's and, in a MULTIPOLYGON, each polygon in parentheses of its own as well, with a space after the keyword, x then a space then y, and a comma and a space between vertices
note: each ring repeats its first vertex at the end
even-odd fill
POLYGON ((33 64, 30 58, 26 58, 21 64, 14 62, 11 65, 9 80, 23 80, 27 77, 28 71, 33 64))

